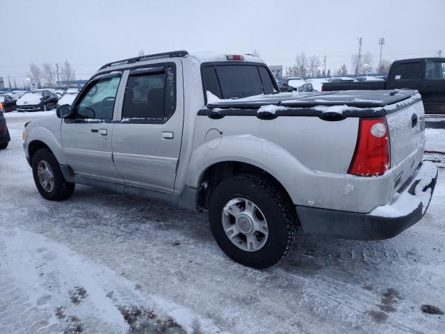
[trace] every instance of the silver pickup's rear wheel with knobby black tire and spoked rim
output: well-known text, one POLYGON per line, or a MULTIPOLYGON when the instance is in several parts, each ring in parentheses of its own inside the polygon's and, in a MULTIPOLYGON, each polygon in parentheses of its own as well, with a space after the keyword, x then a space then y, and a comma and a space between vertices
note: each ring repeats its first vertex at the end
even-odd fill
MULTIPOLYGON (((273 180, 258 175, 238 175, 219 184, 211 194, 209 223, 213 237, 228 257, 257 269, 271 267, 282 260, 296 244, 298 236, 298 219, 291 199, 273 180), (243 200, 246 200, 244 209, 243 200), (268 231, 266 239, 264 239, 266 234, 255 229, 254 232, 248 232, 251 235, 241 233, 229 238, 226 230, 236 226, 237 231, 241 231, 243 222, 238 225, 238 218, 247 211, 249 201, 252 203, 250 206, 256 208, 254 215, 257 218, 253 218, 253 221, 266 222, 267 228, 264 229, 268 231), (236 204, 230 205, 230 203, 236 204), (227 214, 225 209, 230 206, 238 208, 236 209, 239 210, 238 218, 227 214), (252 236, 259 245, 256 250, 254 245, 248 242, 251 240, 248 237, 252 236)), ((255 223, 252 223, 253 225, 255 223)))

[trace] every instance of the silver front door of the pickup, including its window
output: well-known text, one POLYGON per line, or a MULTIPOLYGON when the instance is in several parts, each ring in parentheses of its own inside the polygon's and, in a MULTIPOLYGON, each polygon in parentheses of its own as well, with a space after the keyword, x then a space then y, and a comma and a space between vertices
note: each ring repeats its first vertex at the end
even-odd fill
POLYGON ((124 184, 113 163, 111 138, 121 73, 92 79, 62 122, 62 145, 75 175, 124 184))

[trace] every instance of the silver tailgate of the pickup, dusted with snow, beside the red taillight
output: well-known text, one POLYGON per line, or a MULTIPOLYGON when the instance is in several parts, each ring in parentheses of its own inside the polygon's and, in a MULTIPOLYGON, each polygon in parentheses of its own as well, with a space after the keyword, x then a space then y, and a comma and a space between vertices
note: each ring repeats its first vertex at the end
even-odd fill
POLYGON ((419 166, 425 149, 425 113, 420 95, 385 106, 391 145, 394 190, 407 181, 419 166))

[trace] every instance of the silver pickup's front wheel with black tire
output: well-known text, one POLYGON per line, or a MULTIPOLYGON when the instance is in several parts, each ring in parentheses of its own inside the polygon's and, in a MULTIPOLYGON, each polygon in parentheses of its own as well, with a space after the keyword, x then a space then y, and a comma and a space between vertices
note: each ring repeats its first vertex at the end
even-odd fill
POLYGON ((56 157, 49 149, 41 148, 35 152, 31 166, 33 168, 35 186, 43 198, 47 200, 66 200, 72 196, 75 184, 65 180, 56 157), (51 170, 53 175, 52 187, 44 188, 44 185, 40 182, 38 172, 40 166, 47 166, 51 170))

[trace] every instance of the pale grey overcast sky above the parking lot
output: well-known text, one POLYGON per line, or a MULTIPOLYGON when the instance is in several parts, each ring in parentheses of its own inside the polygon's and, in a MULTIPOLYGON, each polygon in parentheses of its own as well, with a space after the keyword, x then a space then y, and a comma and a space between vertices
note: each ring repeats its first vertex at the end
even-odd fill
MULTIPOLYGON (((445 0, 0 0, 0 77, 17 84, 35 62, 72 63, 87 79, 108 61, 177 49, 252 53, 268 65, 293 65, 296 54, 327 57, 327 68, 362 49, 382 58, 445 51, 445 0)), ((442 54, 444 56, 444 54, 442 54)))

